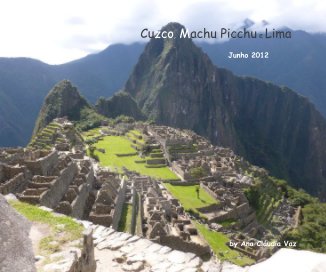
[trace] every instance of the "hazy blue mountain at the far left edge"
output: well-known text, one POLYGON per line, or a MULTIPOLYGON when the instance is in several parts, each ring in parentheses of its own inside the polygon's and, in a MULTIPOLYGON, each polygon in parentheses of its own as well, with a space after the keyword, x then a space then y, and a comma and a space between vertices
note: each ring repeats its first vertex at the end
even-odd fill
POLYGON ((27 144, 42 100, 54 82, 45 63, 0 58, 1 146, 27 144))

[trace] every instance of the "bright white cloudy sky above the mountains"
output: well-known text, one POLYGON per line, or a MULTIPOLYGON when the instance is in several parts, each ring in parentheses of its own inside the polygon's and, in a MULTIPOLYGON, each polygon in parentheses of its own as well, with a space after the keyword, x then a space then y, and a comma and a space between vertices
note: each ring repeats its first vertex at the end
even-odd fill
POLYGON ((178 21, 190 30, 235 27, 267 20, 309 32, 326 32, 323 0, 11 0, 0 8, 1 57, 64 63, 113 43, 140 41, 143 28, 178 21))

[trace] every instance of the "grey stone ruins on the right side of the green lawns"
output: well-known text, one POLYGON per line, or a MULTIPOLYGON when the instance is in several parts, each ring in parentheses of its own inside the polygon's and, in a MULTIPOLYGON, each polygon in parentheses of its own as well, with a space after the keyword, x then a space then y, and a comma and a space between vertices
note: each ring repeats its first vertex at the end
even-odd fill
MULTIPOLYGON (((231 149, 213 146, 208 140, 191 131, 148 126, 147 132, 153 137, 153 141, 160 143, 172 170, 183 179, 177 183, 200 184, 218 201, 218 204, 198 209, 207 218, 206 222, 212 230, 232 234, 238 240, 268 238, 268 232, 258 223, 256 213, 244 195, 244 189, 254 184, 253 178, 246 175, 247 170, 259 176, 268 175, 266 170, 251 166, 231 149), (193 169, 196 168, 201 170, 202 176, 194 175, 193 169), (232 224, 223 227, 225 222, 232 224)), ((272 216, 274 215, 280 221, 279 225, 274 227, 282 233, 284 226, 293 223, 294 209, 286 202, 273 211, 272 216)), ((158 218, 157 215, 155 217, 158 218)), ((161 225, 162 223, 153 225, 154 230, 164 233, 160 230, 161 225)), ((265 249, 249 247, 240 248, 239 251, 256 260, 266 257, 265 249)))

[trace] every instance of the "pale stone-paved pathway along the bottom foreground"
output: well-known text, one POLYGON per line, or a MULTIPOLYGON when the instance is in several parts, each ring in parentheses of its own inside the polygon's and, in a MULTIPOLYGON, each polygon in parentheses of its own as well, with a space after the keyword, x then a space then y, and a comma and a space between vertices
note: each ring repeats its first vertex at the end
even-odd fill
POLYGON ((95 259, 100 272, 245 272, 227 263, 203 262, 193 253, 172 250, 138 236, 117 232, 112 228, 80 221, 93 229, 95 259))

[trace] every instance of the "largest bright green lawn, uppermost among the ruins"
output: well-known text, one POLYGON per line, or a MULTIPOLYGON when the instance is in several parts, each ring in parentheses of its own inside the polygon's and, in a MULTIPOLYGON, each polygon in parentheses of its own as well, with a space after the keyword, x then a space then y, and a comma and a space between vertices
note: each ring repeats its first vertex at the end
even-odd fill
POLYGON ((128 154, 136 152, 131 147, 131 142, 123 136, 105 136, 103 140, 98 141, 95 145, 96 148, 105 149, 105 153, 95 151, 94 154, 98 155, 100 164, 108 166, 112 170, 122 171, 122 167, 129 170, 136 171, 141 175, 147 175, 159 179, 178 179, 178 177, 168 168, 147 168, 146 163, 136 163, 135 161, 143 160, 138 155, 118 157, 116 154, 128 154))

